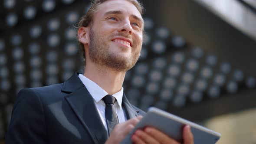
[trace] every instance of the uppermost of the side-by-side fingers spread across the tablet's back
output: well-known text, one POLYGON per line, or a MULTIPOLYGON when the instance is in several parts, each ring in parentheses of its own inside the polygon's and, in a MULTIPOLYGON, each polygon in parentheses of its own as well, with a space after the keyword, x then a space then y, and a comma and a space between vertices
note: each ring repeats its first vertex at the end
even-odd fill
POLYGON ((161 144, 179 144, 177 141, 175 141, 174 139, 172 139, 171 137, 167 136, 166 134, 164 134, 161 131, 158 131, 155 128, 145 128, 144 130, 147 134, 149 134, 150 136, 154 137, 154 139, 156 139, 158 142, 160 142, 161 144))

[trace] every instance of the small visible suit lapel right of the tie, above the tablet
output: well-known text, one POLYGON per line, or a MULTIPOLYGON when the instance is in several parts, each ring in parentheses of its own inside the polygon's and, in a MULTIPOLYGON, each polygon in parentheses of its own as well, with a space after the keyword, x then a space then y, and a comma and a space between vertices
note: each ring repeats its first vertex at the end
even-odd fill
POLYGON ((125 108, 125 112, 127 114, 127 119, 131 119, 131 118, 135 118, 137 117, 139 114, 139 111, 136 111, 130 104, 130 102, 128 101, 128 99, 125 96, 125 93, 123 95, 123 100, 122 100, 122 104, 125 108))

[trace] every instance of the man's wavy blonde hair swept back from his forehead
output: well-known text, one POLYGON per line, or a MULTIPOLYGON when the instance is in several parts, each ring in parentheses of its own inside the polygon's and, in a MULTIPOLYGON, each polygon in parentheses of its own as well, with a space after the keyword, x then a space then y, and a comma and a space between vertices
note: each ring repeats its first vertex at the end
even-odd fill
MULTIPOLYGON (((94 16, 95 12, 97 11, 98 6, 106 1, 108 1, 108 0, 92 0, 91 7, 89 7, 89 10, 87 11, 87 13, 84 16, 82 16, 82 18, 80 19, 78 26, 77 26, 77 30, 80 27, 87 27, 87 26, 91 25, 93 22, 93 16, 94 16)), ((138 11, 139 11, 139 13, 141 13, 141 15, 144 13, 144 7, 140 2, 138 2, 138 0, 127 0, 127 1, 132 3, 138 9, 138 11)), ((85 49, 84 49, 83 43, 79 42, 79 50, 80 50, 80 52, 84 58, 84 61, 85 61, 85 49)))

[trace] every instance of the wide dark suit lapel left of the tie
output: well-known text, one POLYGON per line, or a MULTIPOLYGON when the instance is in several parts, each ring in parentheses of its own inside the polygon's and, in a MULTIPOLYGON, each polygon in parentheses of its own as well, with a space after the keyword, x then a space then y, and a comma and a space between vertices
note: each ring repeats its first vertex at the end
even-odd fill
POLYGON ((95 144, 105 143, 108 138, 107 131, 102 124, 92 96, 79 79, 78 74, 64 82, 62 91, 69 92, 65 98, 95 144))

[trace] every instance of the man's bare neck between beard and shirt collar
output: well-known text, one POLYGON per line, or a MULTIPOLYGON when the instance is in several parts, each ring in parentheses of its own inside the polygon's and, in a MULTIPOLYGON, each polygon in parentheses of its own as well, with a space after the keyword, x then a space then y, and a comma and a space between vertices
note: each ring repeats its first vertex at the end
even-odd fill
POLYGON ((125 72, 116 72, 113 69, 91 62, 86 64, 84 75, 109 95, 119 92, 125 79, 125 72))

